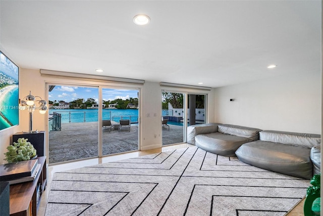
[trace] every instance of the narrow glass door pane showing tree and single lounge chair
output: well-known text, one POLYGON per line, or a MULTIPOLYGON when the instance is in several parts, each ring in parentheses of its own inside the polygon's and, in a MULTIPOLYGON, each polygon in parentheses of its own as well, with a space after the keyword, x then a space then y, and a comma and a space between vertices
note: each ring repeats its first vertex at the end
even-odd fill
POLYGON ((163 145, 184 142, 184 94, 174 92, 161 93, 161 127, 163 145))

